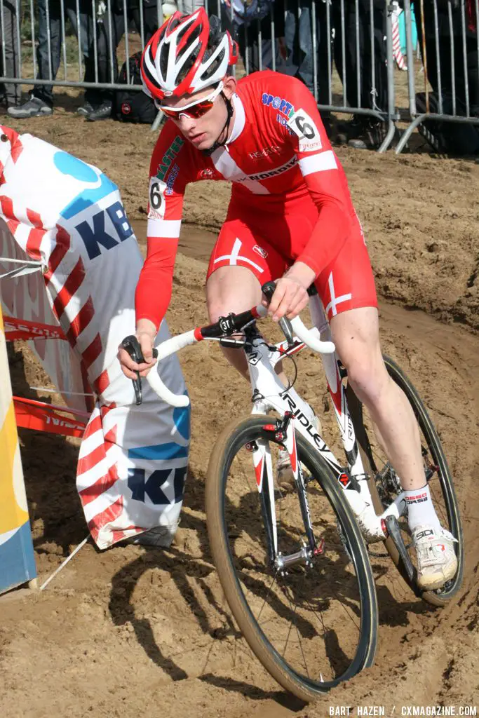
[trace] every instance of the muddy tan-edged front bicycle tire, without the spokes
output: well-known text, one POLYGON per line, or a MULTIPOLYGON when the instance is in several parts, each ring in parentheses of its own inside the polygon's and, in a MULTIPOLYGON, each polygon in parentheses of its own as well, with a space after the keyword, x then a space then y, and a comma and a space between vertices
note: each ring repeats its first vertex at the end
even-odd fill
POLYGON ((239 421, 236 419, 226 426, 220 437, 218 437, 210 457, 206 479, 205 498, 208 536, 220 583, 243 637, 256 655, 256 658, 266 668, 266 671, 269 671, 271 676, 284 689, 299 699, 309 702, 317 699, 320 694, 324 694, 340 681, 348 680, 363 668, 372 665, 376 653, 378 633, 376 587, 366 544, 355 522, 353 513, 343 498, 343 489, 338 485, 335 476, 320 454, 317 454, 306 440, 297 433, 299 461, 304 463, 308 469, 312 468, 314 470, 315 478, 320 482, 320 488, 338 517, 345 533, 345 538, 348 541, 355 575, 358 579, 358 594, 360 594, 361 600, 361 628, 358 632, 359 640, 353 662, 350 663, 348 669, 341 676, 330 682, 323 680, 312 681, 307 676, 300 674, 292 666, 289 666, 276 651, 276 648, 271 645, 269 638, 266 637, 250 610, 241 588, 238 574, 233 565, 228 540, 228 526, 225 519, 226 482, 228 481, 228 472, 233 459, 241 451, 241 447, 261 437, 261 428, 264 424, 271 424, 271 416, 248 416, 248 418, 240 419, 239 421))

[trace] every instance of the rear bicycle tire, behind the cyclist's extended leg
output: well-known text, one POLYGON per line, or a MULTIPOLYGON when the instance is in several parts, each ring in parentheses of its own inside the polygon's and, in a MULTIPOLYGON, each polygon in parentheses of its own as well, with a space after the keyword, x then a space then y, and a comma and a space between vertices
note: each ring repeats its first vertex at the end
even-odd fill
MULTIPOLYGON (((422 600, 426 601, 430 605, 442 607, 447 605, 447 603, 450 602, 452 597, 454 597, 459 591, 462 584, 462 574, 464 572, 464 543, 462 536, 462 525, 460 521, 459 507, 457 505, 457 498, 455 495, 452 475, 450 472, 449 465, 447 464, 445 452, 442 449, 440 438, 427 412, 427 409, 424 406, 424 402, 419 396, 417 389, 414 387, 408 376, 406 376, 406 373, 404 373, 404 371, 394 361, 394 359, 391 359, 391 357, 387 355, 383 355, 383 360, 386 364, 386 369, 388 370, 389 376, 391 376, 393 381, 396 382, 396 384, 406 394, 409 404, 411 404, 411 407, 414 411, 414 415, 416 416, 416 419, 418 421, 419 429, 421 430, 424 438, 427 441, 427 446, 429 452, 431 452, 431 455, 434 459, 434 463, 440 468, 439 480, 442 490, 442 496, 445 500, 445 508, 447 510, 447 519, 449 521, 448 528, 452 533, 452 536, 457 539, 457 573, 455 574, 454 579, 452 579, 452 582, 448 582, 447 590, 443 592, 421 592, 418 589, 417 584, 415 582, 411 582, 406 571, 404 570, 404 566, 392 538, 386 538, 386 541, 384 541, 384 545, 386 546, 386 550, 388 551, 389 556, 391 556, 394 565, 399 570, 399 573, 404 578, 406 584, 409 585, 409 587, 414 591, 414 593, 416 593, 416 595, 420 595, 422 597, 422 600)), ((373 480, 374 470, 371 466, 371 453, 369 449, 370 442, 368 439, 367 429, 363 424, 362 404, 358 400, 358 398, 355 397, 355 394, 350 387, 348 387, 348 406, 356 432, 356 439, 358 440, 358 444, 360 447, 361 457, 363 458, 363 465, 365 467, 366 473, 368 473, 368 485, 371 490, 373 506, 376 510, 376 513, 382 513, 385 507, 378 493, 378 486, 376 484, 376 481, 373 480)))

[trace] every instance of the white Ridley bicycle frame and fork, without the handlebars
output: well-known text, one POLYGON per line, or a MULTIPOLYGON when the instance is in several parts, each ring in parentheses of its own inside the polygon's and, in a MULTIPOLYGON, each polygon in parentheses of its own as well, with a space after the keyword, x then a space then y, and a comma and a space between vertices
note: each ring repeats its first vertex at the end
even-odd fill
MULTIPOLYGON (((310 313, 312 321, 320 332, 321 337, 325 340, 331 340, 330 327, 326 320, 320 299, 317 296, 310 298, 310 313)), ((361 454, 355 438, 353 421, 348 410, 345 384, 343 382, 345 371, 341 370, 340 361, 336 353, 322 354, 321 358, 325 369, 328 390, 332 398, 332 406, 334 407, 335 417, 340 429, 345 457, 348 462, 346 467, 340 465, 340 462, 338 462, 331 449, 317 432, 315 426, 312 425, 310 419, 304 416, 292 397, 289 396, 288 390, 284 388, 279 380, 274 366, 284 355, 294 355, 302 350, 304 346, 304 343, 299 340, 296 340, 290 348, 287 347, 287 342, 282 342, 276 345, 276 351, 272 351, 268 345, 266 345, 264 338, 259 332, 250 332, 250 339, 246 342, 245 352, 248 361, 251 387, 253 389, 254 405, 252 414, 268 414, 269 411, 276 411, 280 416, 284 416, 287 412, 291 412, 294 417, 294 421, 289 422, 287 426, 287 437, 283 443, 289 452, 299 498, 300 500, 304 499, 306 502, 306 513, 304 513, 303 506, 302 512, 304 527, 309 539, 310 533, 312 535, 312 527, 309 520, 309 511, 307 510, 302 470, 297 461, 294 429, 297 429, 297 431, 302 434, 311 447, 318 452, 332 468, 332 471, 338 478, 338 482, 343 488, 345 499, 348 500, 366 541, 368 541, 368 543, 383 541, 387 536, 386 518, 394 516, 397 519, 405 513, 406 504, 404 501, 404 493, 401 492, 380 516, 376 515, 363 468, 363 462, 361 460, 361 454)), ((274 533, 272 546, 276 552, 274 476, 272 475, 271 456, 269 456, 267 442, 257 442, 257 444, 257 450, 254 452, 254 454, 256 454, 254 456, 254 463, 256 469, 261 465, 261 481, 257 481, 258 488, 260 493, 266 492, 264 497, 261 498, 261 501, 262 505, 266 501, 269 504, 264 510, 266 510, 267 516, 271 517, 270 526, 274 533)), ((256 476, 258 479, 258 473, 256 476)), ((314 542, 314 537, 312 541, 314 542)), ((312 541, 309 541, 310 551, 314 551, 315 549, 312 541)))

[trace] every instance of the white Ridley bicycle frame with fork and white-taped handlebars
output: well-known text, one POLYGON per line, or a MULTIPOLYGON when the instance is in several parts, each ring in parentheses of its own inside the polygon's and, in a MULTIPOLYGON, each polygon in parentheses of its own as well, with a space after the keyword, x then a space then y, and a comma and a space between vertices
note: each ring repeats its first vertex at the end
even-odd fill
MULTIPOLYGON (((274 347, 266 344, 256 328, 256 320, 266 316, 266 309, 260 304, 246 312, 241 312, 241 314, 228 314, 227 317, 220 317, 215 324, 196 327, 193 330, 171 337, 158 345, 155 352, 158 360, 162 360, 162 358, 176 353, 188 345, 203 340, 216 340, 224 346, 243 348, 245 350, 253 389, 254 406, 252 413, 267 414, 269 411, 276 411, 280 416, 285 416, 287 412, 290 412, 295 419, 294 422, 289 422, 284 442, 282 441, 282 443, 288 448, 292 467, 297 467, 297 470, 294 469, 294 477, 297 482, 304 517, 304 528, 310 541, 310 551, 314 553, 314 536, 309 518, 302 470, 297 460, 293 426, 303 435, 312 449, 318 452, 330 465, 332 471, 338 477, 338 481, 344 490, 345 499, 350 504, 363 536, 368 543, 383 541, 388 536, 386 519, 394 521, 402 516, 406 510, 406 502, 404 501, 404 493, 401 492, 380 516, 376 515, 361 461, 358 442, 355 438, 353 421, 348 411, 348 402, 343 384, 345 371, 340 368, 340 361, 335 353, 334 343, 331 341, 330 327, 320 299, 317 296, 310 297, 310 312, 315 325, 313 330, 308 330, 307 327, 304 327, 299 317, 295 317, 291 321, 292 329, 300 337, 299 339, 294 337, 292 346, 288 346, 287 342, 274 345, 274 347), (246 339, 243 341, 234 339, 232 335, 235 332, 243 332, 246 339), (327 337, 326 340, 323 337, 327 337), (327 386, 332 397, 332 404, 345 449, 347 459, 345 467, 340 465, 340 462, 338 462, 331 449, 317 432, 315 426, 312 425, 310 419, 304 416, 296 406, 294 399, 288 393, 288 389, 284 388, 274 370, 274 366, 282 355, 297 353, 304 346, 308 346, 321 354, 327 386)), ((127 345, 134 344, 134 342, 138 343, 136 337, 126 337, 124 345, 125 342, 127 345)), ((141 354, 139 345, 137 349, 141 354)), ((177 396, 167 386, 164 386, 156 371, 149 372, 147 381, 157 395, 168 404, 172 404, 172 406, 187 406, 189 404, 190 400, 187 396, 177 396)), ((272 475, 271 457, 267 457, 268 447, 266 442, 260 442, 260 444, 261 446, 254 452, 257 454, 254 457, 256 481, 261 494, 261 505, 264 512, 266 512, 265 519, 268 521, 268 530, 271 528, 270 552, 271 554, 276 554, 274 477, 272 475)))

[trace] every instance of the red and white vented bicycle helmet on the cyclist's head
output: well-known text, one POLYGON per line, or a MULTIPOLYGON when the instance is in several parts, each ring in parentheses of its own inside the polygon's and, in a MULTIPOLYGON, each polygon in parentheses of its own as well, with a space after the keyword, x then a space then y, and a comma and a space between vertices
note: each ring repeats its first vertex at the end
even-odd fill
POLYGON ((202 7, 191 15, 175 12, 149 40, 141 56, 147 95, 162 100, 217 85, 238 60, 238 45, 220 20, 202 7))

